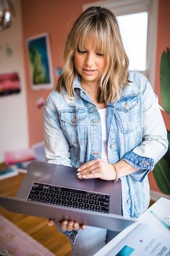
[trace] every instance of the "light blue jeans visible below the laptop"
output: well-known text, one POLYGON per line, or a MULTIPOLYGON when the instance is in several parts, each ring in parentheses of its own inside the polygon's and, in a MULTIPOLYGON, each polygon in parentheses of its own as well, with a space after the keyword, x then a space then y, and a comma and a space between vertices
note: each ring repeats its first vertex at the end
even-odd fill
POLYGON ((71 255, 92 256, 117 235, 118 232, 103 228, 88 226, 85 230, 80 229, 74 244, 73 241, 68 238, 71 243, 71 255))

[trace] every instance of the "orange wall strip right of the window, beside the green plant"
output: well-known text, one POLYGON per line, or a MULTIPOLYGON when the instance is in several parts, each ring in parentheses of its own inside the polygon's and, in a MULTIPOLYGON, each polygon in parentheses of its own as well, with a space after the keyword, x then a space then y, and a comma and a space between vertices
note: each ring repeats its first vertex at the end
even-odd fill
MULTIPOLYGON (((167 47, 170 48, 170 1, 169 0, 159 0, 159 13, 158 13, 158 28, 157 28, 157 53, 156 53, 156 67, 155 67, 155 92, 159 97, 159 102, 161 104, 160 97, 160 58, 162 52, 166 50, 167 47)), ((170 102, 170 99, 169 99, 170 102)), ((170 115, 162 111, 164 116, 164 121, 166 123, 167 129, 170 131, 170 115)), ((160 192, 160 189, 155 182, 153 173, 149 175, 150 187, 151 189, 160 192)))

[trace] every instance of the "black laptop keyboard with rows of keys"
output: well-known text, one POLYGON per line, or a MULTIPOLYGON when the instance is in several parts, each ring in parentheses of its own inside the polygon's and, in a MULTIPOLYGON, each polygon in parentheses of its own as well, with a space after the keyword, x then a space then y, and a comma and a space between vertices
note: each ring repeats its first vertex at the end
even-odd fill
POLYGON ((110 195, 34 182, 29 201, 62 205, 97 212, 109 212, 110 195))

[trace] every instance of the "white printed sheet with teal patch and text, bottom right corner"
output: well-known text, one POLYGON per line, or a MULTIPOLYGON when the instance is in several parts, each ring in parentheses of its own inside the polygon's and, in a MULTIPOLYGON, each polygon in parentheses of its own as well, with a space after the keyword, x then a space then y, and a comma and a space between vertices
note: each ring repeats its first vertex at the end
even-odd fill
POLYGON ((169 236, 143 223, 138 224, 107 256, 170 256, 169 236))

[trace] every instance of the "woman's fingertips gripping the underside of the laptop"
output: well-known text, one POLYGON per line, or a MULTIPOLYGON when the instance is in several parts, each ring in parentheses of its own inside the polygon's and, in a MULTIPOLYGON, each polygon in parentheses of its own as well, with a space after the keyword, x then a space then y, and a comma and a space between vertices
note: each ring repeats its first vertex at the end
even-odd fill
MULTIPOLYGON (((72 230, 79 230, 81 228, 82 230, 85 230, 86 226, 80 225, 80 223, 72 220, 61 220, 59 221, 60 223, 60 228, 61 230, 67 230, 67 231, 72 231, 72 230)), ((54 220, 48 220, 48 226, 53 226, 55 224, 54 220)))

